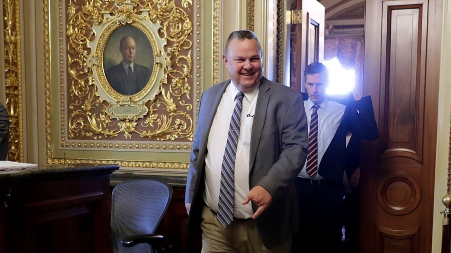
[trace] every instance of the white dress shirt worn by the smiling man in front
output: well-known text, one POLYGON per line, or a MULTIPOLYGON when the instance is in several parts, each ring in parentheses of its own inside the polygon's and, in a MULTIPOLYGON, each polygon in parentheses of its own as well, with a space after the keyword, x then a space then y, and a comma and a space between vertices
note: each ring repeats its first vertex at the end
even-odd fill
MULTIPOLYGON (((260 85, 260 84, 259 84, 260 85)), ((229 133, 230 120, 237 103, 240 90, 233 81, 225 89, 219 102, 213 123, 208 134, 207 154, 205 156, 205 192, 204 201, 214 212, 217 212, 219 187, 221 182, 222 159, 229 133)), ((235 200, 234 216, 237 218, 252 217, 252 205, 242 202, 249 193, 249 152, 251 130, 254 122, 255 105, 259 93, 258 87, 249 92, 243 92, 243 108, 240 120, 240 135, 238 137, 237 154, 235 158, 235 200)))

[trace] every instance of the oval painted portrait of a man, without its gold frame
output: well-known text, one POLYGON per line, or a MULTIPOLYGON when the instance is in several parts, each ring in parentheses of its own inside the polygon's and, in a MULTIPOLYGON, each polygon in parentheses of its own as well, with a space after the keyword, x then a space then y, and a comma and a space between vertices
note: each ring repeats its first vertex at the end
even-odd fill
POLYGON ((110 86, 122 95, 133 95, 149 82, 153 49, 146 34, 137 27, 117 28, 105 44, 103 70, 110 86))

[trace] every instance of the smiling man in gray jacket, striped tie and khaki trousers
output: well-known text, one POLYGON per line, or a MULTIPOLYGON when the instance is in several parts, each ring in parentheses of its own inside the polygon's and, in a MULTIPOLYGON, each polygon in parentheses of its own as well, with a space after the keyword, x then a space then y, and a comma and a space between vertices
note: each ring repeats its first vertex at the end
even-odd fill
POLYGON ((202 252, 289 252, 297 231, 304 103, 263 77, 262 55, 254 32, 232 32, 222 56, 231 79, 202 94, 185 195, 202 252))

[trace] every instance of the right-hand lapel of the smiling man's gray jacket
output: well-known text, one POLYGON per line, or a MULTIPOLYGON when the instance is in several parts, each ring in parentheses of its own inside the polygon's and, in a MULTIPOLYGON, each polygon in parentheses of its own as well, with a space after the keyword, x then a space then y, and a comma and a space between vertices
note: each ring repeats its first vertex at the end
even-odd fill
POLYGON ((266 110, 268 108, 269 98, 271 96, 268 79, 262 77, 260 81, 259 95, 254 113, 254 123, 252 124, 251 148, 249 153, 249 172, 251 172, 259 147, 260 138, 262 137, 263 126, 266 118, 266 110))

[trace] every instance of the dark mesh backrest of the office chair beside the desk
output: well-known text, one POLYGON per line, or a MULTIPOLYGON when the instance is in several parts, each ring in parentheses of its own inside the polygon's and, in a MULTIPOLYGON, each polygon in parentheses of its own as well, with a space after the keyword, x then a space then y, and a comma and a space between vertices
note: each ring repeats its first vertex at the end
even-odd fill
POLYGON ((157 180, 132 180, 116 185, 112 193, 111 240, 114 252, 152 252, 147 243, 133 247, 121 245, 121 239, 154 233, 167 211, 172 188, 157 180))

